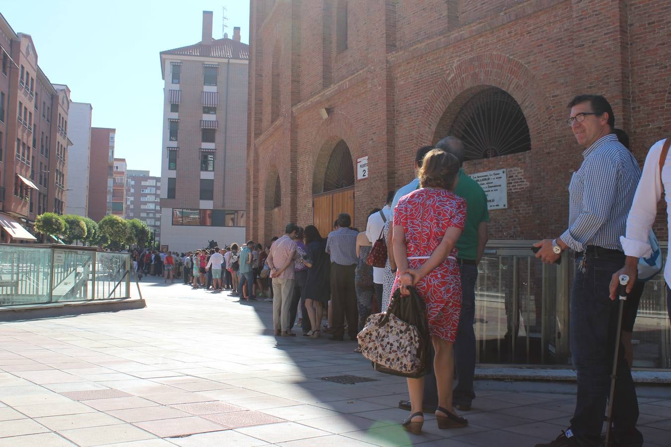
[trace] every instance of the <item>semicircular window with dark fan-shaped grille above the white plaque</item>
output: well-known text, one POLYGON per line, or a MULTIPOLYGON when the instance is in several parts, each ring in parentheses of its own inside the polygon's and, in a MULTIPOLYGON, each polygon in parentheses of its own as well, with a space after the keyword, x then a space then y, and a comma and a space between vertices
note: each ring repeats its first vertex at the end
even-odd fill
POLYGON ((529 151, 531 137, 522 109, 507 92, 490 87, 474 94, 452 123, 450 135, 464 141, 464 159, 529 151))

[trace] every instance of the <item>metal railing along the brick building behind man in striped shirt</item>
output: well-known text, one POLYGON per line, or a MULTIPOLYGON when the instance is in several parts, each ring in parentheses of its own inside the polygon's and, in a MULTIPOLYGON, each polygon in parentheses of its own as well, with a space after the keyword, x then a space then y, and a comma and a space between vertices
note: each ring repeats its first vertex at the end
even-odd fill
MULTIPOLYGON (((570 365, 571 253, 560 265, 534 257, 535 241, 490 241, 478 266, 475 333, 478 363, 570 365)), ((666 253, 666 243, 663 247, 666 253)), ((671 368, 666 286, 648 281, 633 328, 634 367, 671 368)))

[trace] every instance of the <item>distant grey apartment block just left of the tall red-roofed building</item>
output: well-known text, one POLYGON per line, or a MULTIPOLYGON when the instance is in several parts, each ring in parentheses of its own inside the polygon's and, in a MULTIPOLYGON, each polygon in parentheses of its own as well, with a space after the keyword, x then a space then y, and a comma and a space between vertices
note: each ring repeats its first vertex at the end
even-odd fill
POLYGON ((149 225, 157 242, 161 235, 160 194, 160 177, 150 176, 149 171, 126 171, 126 216, 149 225))

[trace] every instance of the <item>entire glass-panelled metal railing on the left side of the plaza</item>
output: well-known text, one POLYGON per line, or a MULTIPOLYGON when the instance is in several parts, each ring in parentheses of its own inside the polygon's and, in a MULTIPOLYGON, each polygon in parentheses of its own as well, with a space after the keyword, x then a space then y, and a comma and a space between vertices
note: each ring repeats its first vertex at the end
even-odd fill
POLYGON ((0 306, 130 298, 130 253, 0 245, 0 306))

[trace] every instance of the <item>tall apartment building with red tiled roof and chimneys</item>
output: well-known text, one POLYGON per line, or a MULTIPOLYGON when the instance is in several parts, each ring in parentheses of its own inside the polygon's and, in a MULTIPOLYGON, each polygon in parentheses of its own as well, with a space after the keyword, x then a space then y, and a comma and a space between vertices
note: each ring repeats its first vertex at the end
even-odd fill
POLYGON ((201 42, 160 53, 164 79, 162 245, 187 251, 208 241, 242 243, 246 225, 249 46, 213 40, 203 11, 201 42))

